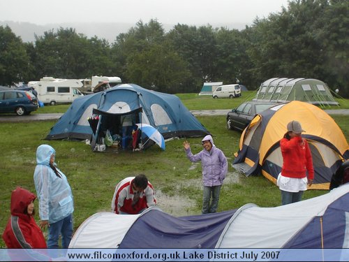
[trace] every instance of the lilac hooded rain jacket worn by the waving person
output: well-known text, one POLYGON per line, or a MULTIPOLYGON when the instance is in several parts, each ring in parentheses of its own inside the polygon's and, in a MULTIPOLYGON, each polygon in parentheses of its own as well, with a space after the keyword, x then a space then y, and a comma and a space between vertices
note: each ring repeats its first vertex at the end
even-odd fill
POLYGON ((198 154, 193 154, 191 149, 188 148, 186 157, 192 162, 201 161, 202 183, 205 187, 214 187, 223 184, 225 175, 228 172, 228 161, 222 150, 214 145, 214 140, 210 135, 205 136, 202 142, 207 140, 212 144, 209 152, 203 149, 198 154))

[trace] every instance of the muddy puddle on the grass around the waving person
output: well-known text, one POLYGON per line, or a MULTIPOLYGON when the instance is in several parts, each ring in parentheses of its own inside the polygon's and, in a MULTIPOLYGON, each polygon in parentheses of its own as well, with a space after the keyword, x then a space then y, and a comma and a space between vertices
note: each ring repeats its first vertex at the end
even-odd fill
MULTIPOLYGON (((194 166, 195 164, 193 164, 194 166)), ((193 168, 191 166, 191 168, 193 168)), ((228 172, 225 176, 224 184, 236 184, 239 183, 239 173, 228 172)), ((192 179, 181 181, 178 184, 174 185, 176 191, 179 189, 190 187, 193 189, 202 190, 202 180, 201 179, 192 179)), ((192 199, 182 196, 168 196, 163 193, 161 189, 156 190, 156 203, 163 212, 171 214, 174 217, 184 217, 188 215, 193 215, 193 208, 195 208, 195 201, 192 199)))

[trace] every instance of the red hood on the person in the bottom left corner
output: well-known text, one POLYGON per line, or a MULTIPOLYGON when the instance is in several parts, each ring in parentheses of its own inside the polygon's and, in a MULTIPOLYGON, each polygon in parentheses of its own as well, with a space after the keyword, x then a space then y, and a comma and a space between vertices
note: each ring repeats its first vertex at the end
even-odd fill
POLYGON ((30 217, 28 214, 24 214, 24 210, 35 198, 36 196, 31 191, 17 187, 11 194, 11 214, 21 218, 30 217))

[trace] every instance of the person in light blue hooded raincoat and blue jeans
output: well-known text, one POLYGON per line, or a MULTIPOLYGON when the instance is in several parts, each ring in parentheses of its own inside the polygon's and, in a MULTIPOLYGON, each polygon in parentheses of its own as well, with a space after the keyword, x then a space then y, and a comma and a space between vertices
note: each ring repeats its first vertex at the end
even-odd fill
POLYGON ((55 150, 40 145, 36 150, 34 184, 39 201, 40 228, 48 226, 48 248, 68 248, 73 236, 73 194, 66 175, 54 163, 55 150))

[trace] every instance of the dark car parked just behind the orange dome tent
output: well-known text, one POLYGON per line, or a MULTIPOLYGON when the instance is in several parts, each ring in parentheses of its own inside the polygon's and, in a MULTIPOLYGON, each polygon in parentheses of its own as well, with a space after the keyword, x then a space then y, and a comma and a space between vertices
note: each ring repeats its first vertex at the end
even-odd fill
POLYGON ((246 126, 250 124, 251 120, 255 116, 267 108, 272 107, 275 103, 271 102, 255 102, 248 101, 239 105, 238 108, 234 108, 227 114, 227 129, 237 129, 244 131, 246 126))

